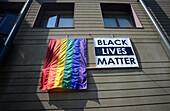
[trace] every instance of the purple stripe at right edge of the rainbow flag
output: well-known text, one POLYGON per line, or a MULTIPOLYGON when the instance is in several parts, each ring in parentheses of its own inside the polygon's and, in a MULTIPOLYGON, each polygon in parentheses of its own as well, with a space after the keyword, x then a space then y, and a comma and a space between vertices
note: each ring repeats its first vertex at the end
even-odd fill
POLYGON ((87 89, 86 39, 80 39, 79 89, 87 89))

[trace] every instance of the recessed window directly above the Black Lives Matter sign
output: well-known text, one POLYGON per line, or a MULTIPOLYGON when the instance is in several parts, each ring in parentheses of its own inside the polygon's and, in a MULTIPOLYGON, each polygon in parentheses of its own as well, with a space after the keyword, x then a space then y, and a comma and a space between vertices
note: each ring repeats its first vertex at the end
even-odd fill
POLYGON ((104 27, 141 28, 132 6, 130 4, 101 4, 104 27))

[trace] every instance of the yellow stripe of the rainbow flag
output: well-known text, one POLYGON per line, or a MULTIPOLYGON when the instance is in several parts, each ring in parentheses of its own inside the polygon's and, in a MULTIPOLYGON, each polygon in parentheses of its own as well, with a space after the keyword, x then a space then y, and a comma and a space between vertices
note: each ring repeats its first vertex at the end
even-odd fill
POLYGON ((67 51, 67 39, 62 39, 54 88, 61 88, 67 51))

